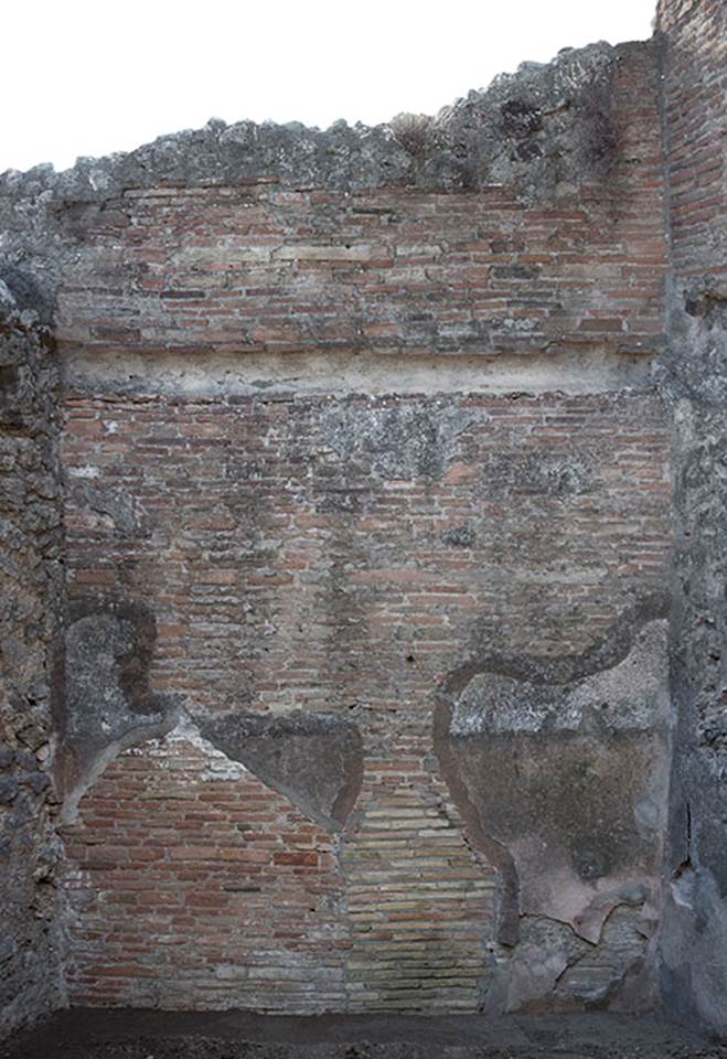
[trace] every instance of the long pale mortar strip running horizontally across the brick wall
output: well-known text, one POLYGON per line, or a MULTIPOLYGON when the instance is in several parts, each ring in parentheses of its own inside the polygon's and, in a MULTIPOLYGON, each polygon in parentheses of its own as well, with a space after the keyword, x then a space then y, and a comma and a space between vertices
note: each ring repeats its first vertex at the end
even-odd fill
POLYGON ((266 396, 269 394, 590 394, 651 387, 652 351, 619 354, 589 346, 534 356, 484 347, 445 356, 407 353, 246 353, 225 355, 129 350, 65 351, 63 372, 73 393, 266 396))

